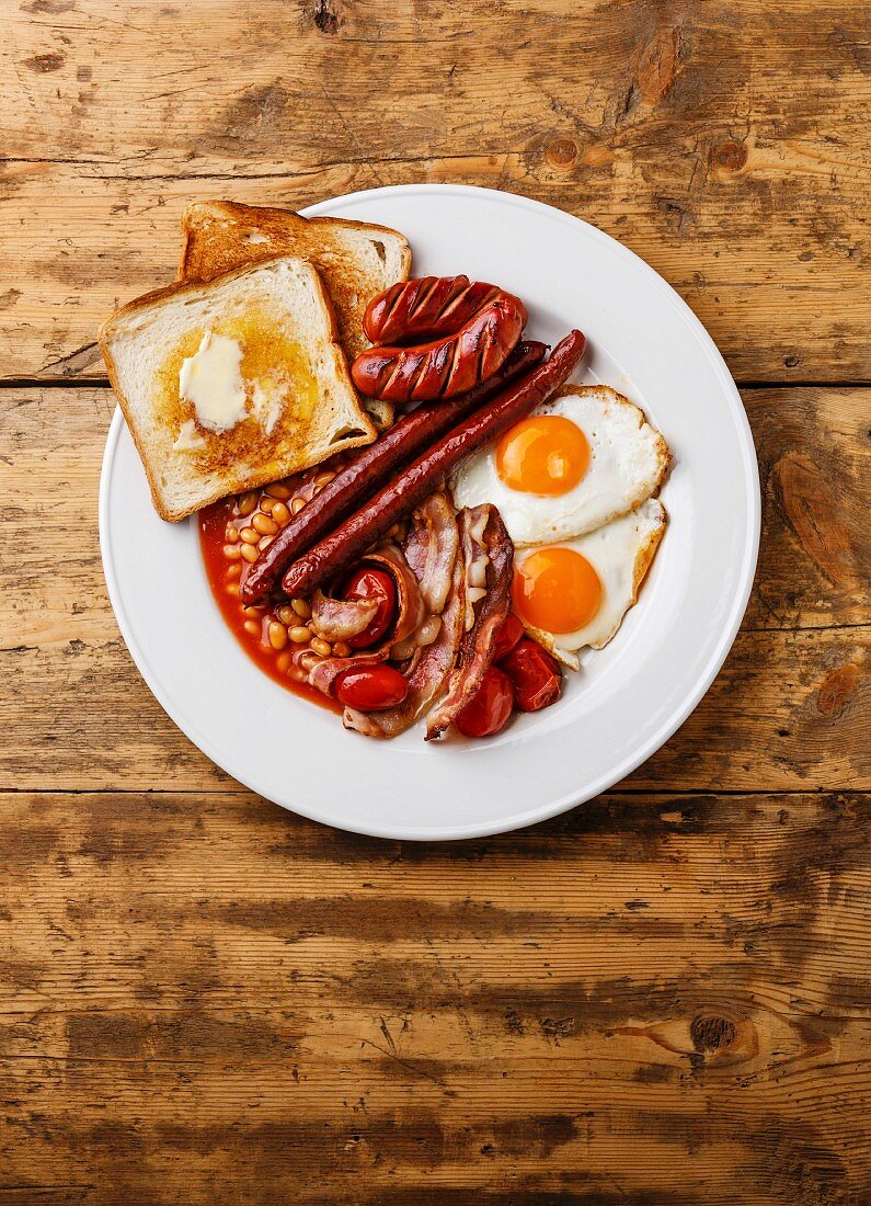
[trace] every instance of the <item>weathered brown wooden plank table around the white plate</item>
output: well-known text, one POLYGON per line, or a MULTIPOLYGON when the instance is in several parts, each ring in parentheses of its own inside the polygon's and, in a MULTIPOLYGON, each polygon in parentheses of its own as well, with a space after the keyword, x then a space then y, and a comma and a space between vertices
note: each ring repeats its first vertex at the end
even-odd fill
POLYGON ((0 18, 0 1204, 871 1201, 861 0, 0 18), (171 280, 187 200, 406 181, 653 264, 742 387, 764 497, 681 732, 560 820, 426 847, 200 755, 96 533, 95 328, 171 280))

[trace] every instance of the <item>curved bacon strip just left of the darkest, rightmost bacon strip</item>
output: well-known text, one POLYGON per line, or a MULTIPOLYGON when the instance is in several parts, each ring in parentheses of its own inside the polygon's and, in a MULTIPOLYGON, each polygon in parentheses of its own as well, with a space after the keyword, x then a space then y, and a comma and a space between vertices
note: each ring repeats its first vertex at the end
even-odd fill
POLYGON ((439 698, 457 661, 463 639, 463 622, 466 614, 465 586, 463 558, 457 557, 439 636, 413 662, 407 674, 408 695, 405 702, 388 712, 366 713, 346 708, 342 716, 346 728, 354 728, 366 737, 398 737, 426 712, 434 699, 439 698))

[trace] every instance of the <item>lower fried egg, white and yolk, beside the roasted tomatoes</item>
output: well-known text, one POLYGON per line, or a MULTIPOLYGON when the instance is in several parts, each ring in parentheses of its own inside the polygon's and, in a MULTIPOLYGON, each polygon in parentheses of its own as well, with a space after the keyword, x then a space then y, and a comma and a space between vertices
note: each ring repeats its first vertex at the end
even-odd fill
POLYGON ((518 550, 513 605, 530 634, 572 669, 601 649, 638 597, 667 516, 657 498, 587 535, 518 550))

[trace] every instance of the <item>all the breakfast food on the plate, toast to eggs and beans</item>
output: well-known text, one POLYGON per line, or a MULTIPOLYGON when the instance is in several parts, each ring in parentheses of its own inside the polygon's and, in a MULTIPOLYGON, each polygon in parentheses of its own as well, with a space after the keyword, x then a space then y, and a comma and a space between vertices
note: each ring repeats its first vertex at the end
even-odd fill
POLYGON ((582 332, 549 350, 500 286, 410 279, 384 227, 210 201, 182 232, 180 280, 100 347, 243 649, 369 737, 488 737, 555 703, 667 522, 667 444, 572 381, 582 332))

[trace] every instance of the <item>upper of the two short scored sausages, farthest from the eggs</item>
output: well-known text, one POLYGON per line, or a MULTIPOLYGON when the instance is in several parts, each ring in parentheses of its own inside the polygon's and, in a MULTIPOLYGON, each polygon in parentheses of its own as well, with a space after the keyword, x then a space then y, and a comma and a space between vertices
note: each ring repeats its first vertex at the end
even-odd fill
MULTIPOLYGON (((398 281, 366 306, 363 329, 373 344, 414 344, 455 335, 460 327, 498 297, 511 297, 498 285, 467 276, 416 276, 398 281)), ((524 310, 525 314, 525 310, 524 310)))

